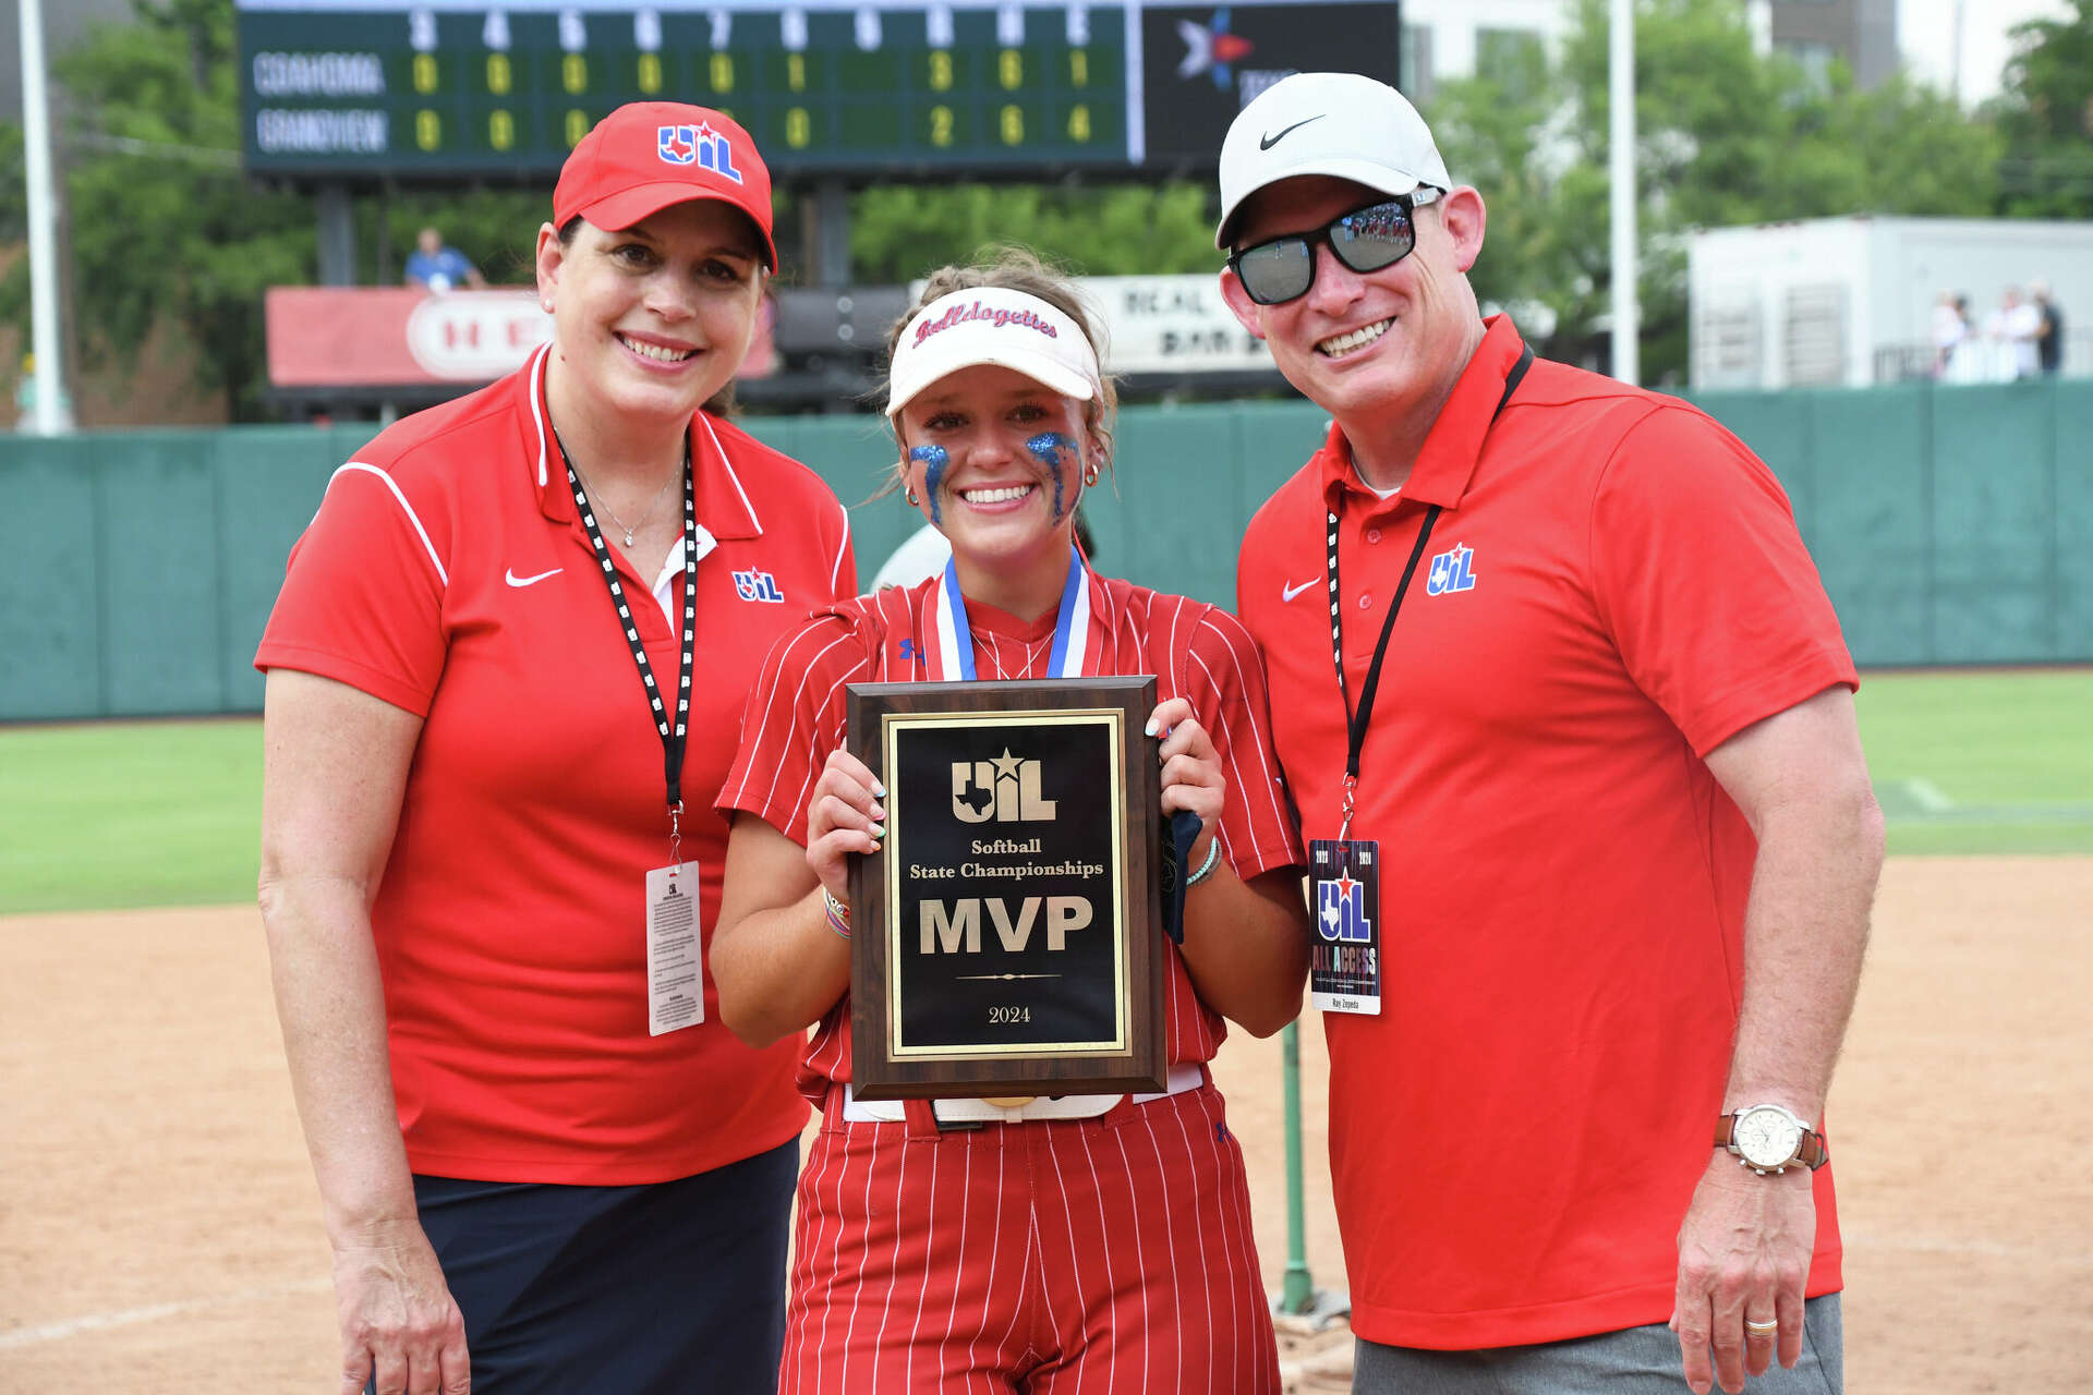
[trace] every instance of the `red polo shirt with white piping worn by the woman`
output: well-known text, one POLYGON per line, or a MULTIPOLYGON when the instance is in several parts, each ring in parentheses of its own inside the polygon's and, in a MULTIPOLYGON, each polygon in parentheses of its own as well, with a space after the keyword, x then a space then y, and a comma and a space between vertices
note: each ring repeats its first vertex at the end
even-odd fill
MULTIPOLYGON (((661 738, 544 427, 542 364, 402 420, 335 473, 255 665, 423 717, 370 908, 414 1171, 661 1182, 800 1131, 797 1044, 741 1046, 710 973, 705 1021, 647 1035, 661 738)), ((682 855, 701 864, 710 943, 726 853, 712 801, 741 703, 781 634, 856 592, 856 561, 829 487, 728 422, 693 418, 691 468, 703 531, 682 855)), ((659 579, 624 558, 620 575, 670 686, 682 544, 659 579)))

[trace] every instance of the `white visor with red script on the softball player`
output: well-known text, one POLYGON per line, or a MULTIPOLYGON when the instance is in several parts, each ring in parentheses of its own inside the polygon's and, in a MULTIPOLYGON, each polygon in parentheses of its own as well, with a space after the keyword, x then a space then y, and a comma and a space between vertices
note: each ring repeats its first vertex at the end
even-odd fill
POLYGON ((887 368, 887 418, 938 379, 980 364, 1013 368, 1076 402, 1101 391, 1097 351, 1080 324, 1036 295, 975 287, 940 295, 902 326, 887 368))

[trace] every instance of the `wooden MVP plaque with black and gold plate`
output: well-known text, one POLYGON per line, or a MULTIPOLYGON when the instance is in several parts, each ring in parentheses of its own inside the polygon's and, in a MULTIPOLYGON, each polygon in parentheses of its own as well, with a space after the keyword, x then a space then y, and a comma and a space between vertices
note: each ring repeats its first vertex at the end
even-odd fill
POLYGON ((867 1100, 1164 1088, 1153 678, 850 684, 887 788, 850 868, 867 1100))

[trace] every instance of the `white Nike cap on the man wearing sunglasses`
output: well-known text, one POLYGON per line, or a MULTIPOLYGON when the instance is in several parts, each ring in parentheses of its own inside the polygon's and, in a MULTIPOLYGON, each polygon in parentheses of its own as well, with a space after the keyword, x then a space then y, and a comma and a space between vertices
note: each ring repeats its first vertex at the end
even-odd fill
POLYGON ((1400 92, 1358 73, 1293 73, 1243 107, 1220 142, 1214 245, 1229 251, 1229 224, 1250 195, 1304 174, 1352 180, 1383 195, 1406 195, 1419 184, 1453 188, 1432 128, 1400 92))

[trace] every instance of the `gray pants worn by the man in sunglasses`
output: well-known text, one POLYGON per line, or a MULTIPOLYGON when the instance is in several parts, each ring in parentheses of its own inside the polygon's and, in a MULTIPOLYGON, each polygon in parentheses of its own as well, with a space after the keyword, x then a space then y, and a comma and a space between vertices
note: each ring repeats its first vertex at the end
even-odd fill
MULTIPOLYGON (((1532 1347, 1423 1351, 1358 1339, 1352 1395, 1679 1395, 1679 1336, 1662 1322, 1532 1347)), ((1723 1387, 1714 1387, 1720 1391, 1723 1387)), ((1802 1305, 1802 1359, 1746 1376, 1746 1395, 1844 1395, 1838 1295, 1802 1305)))

